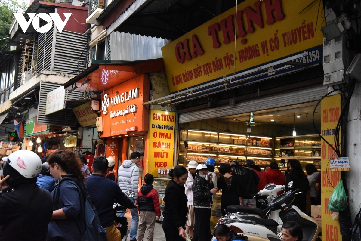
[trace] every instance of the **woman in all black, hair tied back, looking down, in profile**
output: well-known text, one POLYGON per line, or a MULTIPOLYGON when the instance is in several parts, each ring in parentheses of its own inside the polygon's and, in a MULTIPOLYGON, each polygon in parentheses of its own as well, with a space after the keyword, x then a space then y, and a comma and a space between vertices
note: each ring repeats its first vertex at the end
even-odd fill
POLYGON ((169 176, 173 179, 165 189, 162 227, 166 241, 181 241, 186 239, 184 225, 187 221, 188 199, 184 193, 184 183, 188 171, 183 166, 176 166, 169 171, 169 176))

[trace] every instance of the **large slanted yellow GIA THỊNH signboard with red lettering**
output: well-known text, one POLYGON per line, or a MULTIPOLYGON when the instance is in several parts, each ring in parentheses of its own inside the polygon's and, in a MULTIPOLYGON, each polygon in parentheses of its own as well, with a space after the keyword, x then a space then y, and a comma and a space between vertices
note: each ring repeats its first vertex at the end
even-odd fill
POLYGON ((246 0, 238 4, 237 12, 234 7, 165 45, 170 92, 321 45, 323 6, 308 4, 246 0))

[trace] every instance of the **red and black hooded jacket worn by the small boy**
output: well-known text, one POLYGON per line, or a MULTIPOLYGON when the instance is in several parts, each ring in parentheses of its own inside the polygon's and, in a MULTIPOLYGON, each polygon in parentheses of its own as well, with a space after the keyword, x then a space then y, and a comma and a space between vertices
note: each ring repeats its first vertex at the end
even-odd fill
POLYGON ((152 185, 144 184, 138 192, 138 211, 148 210, 155 211, 157 217, 162 213, 159 209, 159 194, 152 185))

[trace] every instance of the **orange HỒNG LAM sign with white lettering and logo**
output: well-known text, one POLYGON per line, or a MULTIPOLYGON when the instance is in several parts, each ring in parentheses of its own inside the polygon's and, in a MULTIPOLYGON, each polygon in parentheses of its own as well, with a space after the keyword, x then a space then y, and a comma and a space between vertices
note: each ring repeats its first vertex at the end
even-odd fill
POLYGON ((148 131, 149 80, 143 74, 104 91, 101 98, 104 132, 101 137, 148 131))

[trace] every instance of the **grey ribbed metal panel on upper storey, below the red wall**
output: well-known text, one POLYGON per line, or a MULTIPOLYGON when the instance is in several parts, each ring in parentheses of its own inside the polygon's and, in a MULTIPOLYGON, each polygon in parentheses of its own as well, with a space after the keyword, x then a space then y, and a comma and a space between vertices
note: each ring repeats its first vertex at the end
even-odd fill
POLYGON ((63 30, 56 31, 53 71, 78 74, 86 68, 87 36, 63 30))

